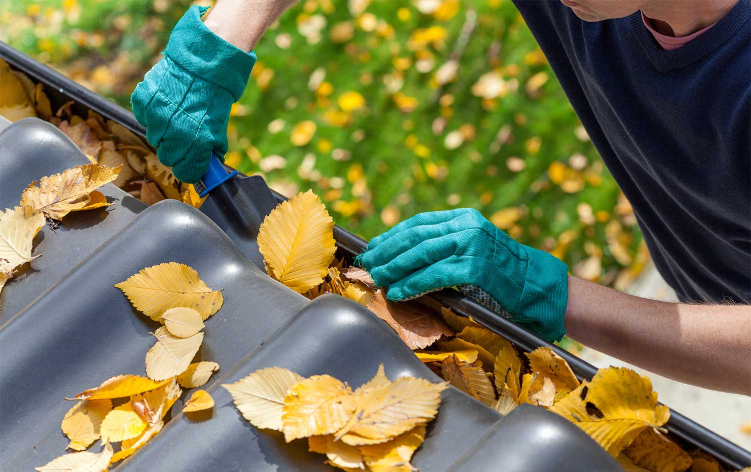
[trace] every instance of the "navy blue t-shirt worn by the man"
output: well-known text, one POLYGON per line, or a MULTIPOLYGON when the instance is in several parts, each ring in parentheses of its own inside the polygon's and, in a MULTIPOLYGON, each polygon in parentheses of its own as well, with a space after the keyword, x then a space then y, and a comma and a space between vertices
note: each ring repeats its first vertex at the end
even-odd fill
POLYGON ((751 0, 677 50, 515 2, 681 300, 751 302, 751 0))

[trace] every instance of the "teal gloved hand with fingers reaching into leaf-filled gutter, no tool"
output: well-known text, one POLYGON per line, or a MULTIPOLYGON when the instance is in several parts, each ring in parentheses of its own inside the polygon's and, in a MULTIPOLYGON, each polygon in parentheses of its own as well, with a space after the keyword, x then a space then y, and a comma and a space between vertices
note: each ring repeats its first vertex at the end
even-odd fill
POLYGON ((566 334, 566 264, 520 245, 475 209, 415 215, 373 238, 357 260, 388 286, 388 299, 459 286, 548 341, 566 334))

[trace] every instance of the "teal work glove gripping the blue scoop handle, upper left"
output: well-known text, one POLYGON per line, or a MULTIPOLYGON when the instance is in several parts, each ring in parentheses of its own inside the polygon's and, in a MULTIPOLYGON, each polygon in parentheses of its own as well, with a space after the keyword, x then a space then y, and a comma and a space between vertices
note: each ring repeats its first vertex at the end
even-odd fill
POLYGON ((131 95, 146 140, 177 179, 201 179, 212 152, 227 152, 232 104, 243 95, 255 65, 246 53, 211 32, 201 21, 208 7, 193 6, 172 30, 164 58, 131 95))

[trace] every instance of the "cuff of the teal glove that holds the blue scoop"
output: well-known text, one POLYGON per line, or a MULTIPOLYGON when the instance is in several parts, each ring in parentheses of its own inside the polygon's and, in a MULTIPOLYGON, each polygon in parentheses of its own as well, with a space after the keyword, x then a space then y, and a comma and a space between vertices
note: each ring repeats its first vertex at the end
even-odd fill
POLYGON ((246 53, 208 29, 201 21, 208 9, 194 5, 185 12, 164 54, 185 71, 230 92, 238 101, 255 65, 255 52, 246 53))

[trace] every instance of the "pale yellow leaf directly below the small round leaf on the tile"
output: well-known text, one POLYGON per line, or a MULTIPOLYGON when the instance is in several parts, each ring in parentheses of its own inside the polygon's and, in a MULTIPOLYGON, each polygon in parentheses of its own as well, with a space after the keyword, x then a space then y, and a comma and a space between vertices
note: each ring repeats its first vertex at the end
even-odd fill
POLYGON ((153 335, 156 344, 146 353, 146 375, 154 380, 182 374, 204 341, 203 332, 190 338, 178 338, 165 326, 158 328, 153 335))

